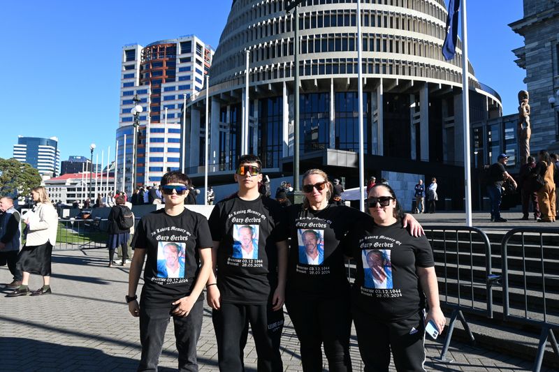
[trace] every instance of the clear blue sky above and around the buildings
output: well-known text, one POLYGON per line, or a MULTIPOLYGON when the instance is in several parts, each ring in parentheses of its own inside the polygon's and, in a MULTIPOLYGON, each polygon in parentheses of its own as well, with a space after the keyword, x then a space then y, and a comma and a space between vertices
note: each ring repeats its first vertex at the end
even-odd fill
MULTIPOLYGON (((59 138, 61 160, 89 157, 89 144, 115 154, 122 46, 196 34, 216 48, 231 0, 8 1, 0 22, 0 157, 17 135, 59 138)), ((469 0, 468 45, 479 81, 516 112, 525 71, 511 52, 523 45, 507 26, 521 0, 469 0)), ((112 157, 111 156, 111 157, 112 157)), ((106 155, 105 155, 106 157, 106 155)), ((94 156, 95 161, 95 156, 94 156)))

